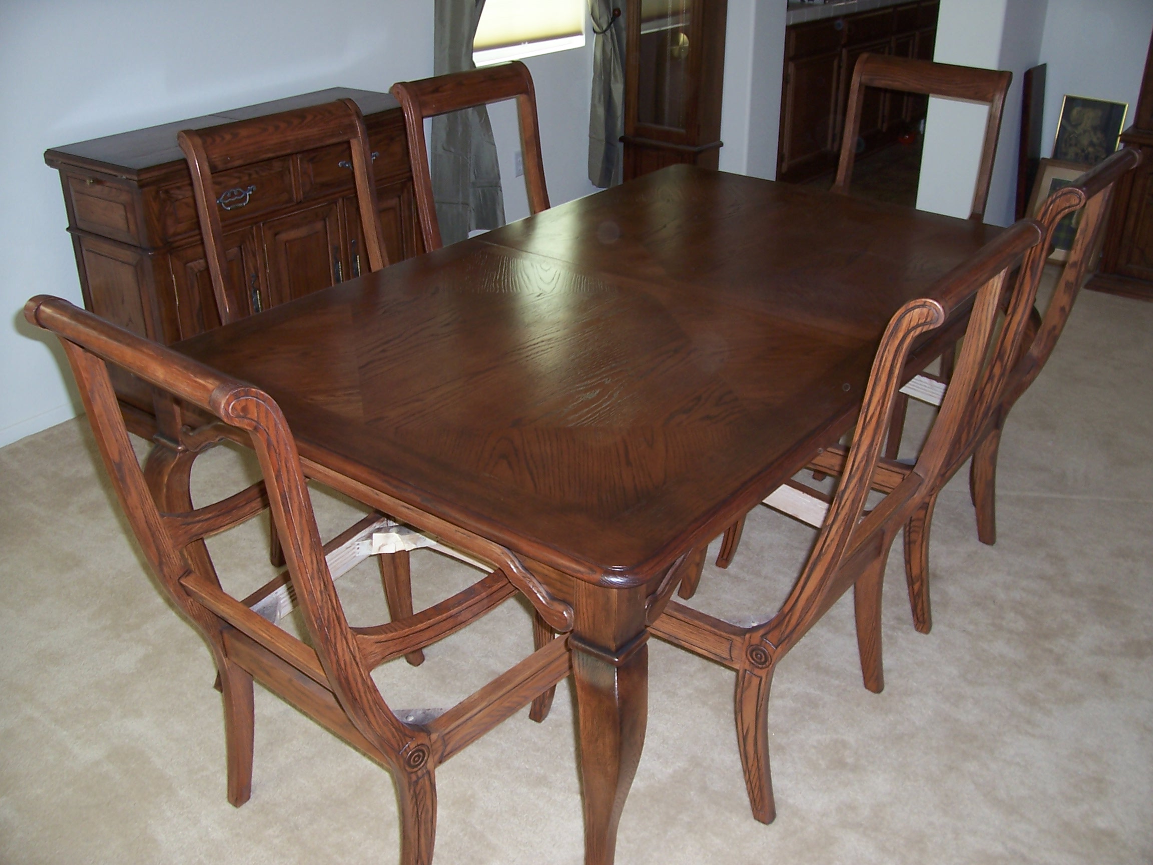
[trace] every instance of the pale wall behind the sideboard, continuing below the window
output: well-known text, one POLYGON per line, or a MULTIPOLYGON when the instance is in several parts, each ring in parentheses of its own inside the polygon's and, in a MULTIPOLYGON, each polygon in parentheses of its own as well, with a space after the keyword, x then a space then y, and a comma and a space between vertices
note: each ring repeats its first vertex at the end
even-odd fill
MULTIPOLYGON (((593 189, 590 63, 588 50, 529 61, 553 203, 593 189)), ((0 2, 0 445, 76 413, 59 349, 21 314, 38 293, 81 302, 45 149, 327 86, 386 90, 431 72, 427 0, 0 2)))

